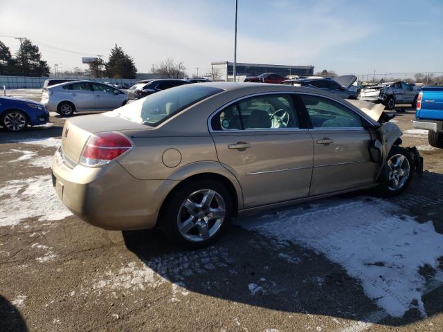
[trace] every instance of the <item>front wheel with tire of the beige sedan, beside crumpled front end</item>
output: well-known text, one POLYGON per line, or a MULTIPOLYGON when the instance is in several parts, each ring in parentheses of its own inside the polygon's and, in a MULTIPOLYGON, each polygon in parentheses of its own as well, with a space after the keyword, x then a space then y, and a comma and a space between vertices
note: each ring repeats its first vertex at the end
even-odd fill
POLYGON ((413 160, 403 147, 394 145, 383 166, 376 193, 379 196, 397 196, 404 192, 413 179, 413 160))

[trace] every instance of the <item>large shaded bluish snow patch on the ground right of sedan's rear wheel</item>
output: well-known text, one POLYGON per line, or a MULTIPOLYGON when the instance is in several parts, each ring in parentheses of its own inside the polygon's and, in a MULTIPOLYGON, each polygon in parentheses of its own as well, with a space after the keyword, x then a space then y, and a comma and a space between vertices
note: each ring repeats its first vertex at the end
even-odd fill
POLYGON ((382 200, 335 200, 310 212, 296 208, 241 225, 323 253, 359 279, 366 295, 393 317, 414 307, 414 300, 426 315, 426 281, 418 270, 425 264, 437 269, 443 235, 435 232, 431 221, 420 224, 409 216, 392 215, 397 209, 382 200))

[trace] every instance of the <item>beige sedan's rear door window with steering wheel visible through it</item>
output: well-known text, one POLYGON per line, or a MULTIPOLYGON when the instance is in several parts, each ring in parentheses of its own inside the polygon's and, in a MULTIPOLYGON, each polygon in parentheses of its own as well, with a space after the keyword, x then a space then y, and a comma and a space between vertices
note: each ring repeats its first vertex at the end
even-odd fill
POLYGON ((240 100, 217 113, 214 130, 299 128, 291 95, 262 95, 240 100))

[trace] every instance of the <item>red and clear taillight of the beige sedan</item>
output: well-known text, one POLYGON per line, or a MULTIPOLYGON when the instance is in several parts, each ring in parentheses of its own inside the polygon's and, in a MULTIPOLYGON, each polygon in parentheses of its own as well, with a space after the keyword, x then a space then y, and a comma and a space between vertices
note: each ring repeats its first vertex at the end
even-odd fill
POLYGON ((132 143, 121 133, 96 133, 89 136, 83 148, 80 164, 102 166, 132 149, 132 143))

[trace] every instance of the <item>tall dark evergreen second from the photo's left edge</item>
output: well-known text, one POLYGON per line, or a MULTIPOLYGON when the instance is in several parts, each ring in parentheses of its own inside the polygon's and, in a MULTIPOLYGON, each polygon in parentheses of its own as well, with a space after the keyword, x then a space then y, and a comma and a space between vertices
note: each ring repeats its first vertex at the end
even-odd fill
POLYGON ((17 69, 19 75, 24 76, 48 76, 48 63, 42 60, 39 46, 34 45, 25 38, 16 53, 17 69))

